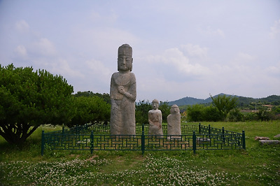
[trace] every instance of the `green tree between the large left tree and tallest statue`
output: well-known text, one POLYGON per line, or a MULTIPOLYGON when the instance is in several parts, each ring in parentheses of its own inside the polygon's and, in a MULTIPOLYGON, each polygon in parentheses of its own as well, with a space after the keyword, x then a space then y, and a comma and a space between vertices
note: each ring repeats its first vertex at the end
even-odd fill
POLYGON ((75 115, 68 127, 91 124, 108 124, 111 115, 111 106, 99 96, 74 96, 73 108, 75 115))

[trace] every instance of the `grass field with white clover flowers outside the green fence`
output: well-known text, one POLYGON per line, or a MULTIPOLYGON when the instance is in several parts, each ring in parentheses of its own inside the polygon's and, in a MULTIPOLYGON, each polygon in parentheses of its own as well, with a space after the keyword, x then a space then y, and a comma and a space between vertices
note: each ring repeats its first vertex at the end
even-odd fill
POLYGON ((255 136, 280 134, 277 122, 212 122, 246 133, 246 150, 176 152, 60 150, 41 156, 37 129, 22 148, 0 137, 0 185, 280 185, 280 145, 260 145, 255 136))

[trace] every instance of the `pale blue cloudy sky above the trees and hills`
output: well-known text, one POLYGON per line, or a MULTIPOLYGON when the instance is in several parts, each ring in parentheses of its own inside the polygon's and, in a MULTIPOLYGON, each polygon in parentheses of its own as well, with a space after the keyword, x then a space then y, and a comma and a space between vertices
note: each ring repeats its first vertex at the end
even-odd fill
POLYGON ((0 64, 109 93, 133 48, 137 101, 280 94, 280 1, 0 0, 0 64))

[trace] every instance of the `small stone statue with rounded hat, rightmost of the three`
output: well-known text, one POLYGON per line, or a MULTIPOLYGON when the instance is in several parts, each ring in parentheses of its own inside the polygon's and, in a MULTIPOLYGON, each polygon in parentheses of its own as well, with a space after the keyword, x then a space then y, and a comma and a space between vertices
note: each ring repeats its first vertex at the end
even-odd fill
MULTIPOLYGON (((167 116, 167 135, 181 135, 181 114, 177 105, 173 105, 167 116)), ((171 136, 179 138, 180 136, 171 136)))

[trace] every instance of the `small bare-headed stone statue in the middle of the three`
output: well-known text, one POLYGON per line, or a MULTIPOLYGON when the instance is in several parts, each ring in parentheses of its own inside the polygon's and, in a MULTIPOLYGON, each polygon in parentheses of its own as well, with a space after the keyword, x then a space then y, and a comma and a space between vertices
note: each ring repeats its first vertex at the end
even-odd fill
POLYGON ((157 99, 152 101, 153 110, 148 111, 148 122, 150 135, 163 135, 162 132, 162 111, 158 110, 159 102, 157 99))

